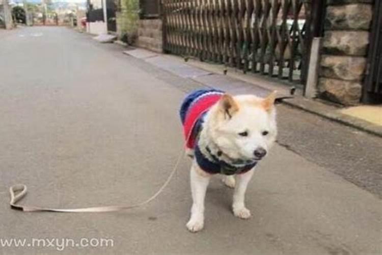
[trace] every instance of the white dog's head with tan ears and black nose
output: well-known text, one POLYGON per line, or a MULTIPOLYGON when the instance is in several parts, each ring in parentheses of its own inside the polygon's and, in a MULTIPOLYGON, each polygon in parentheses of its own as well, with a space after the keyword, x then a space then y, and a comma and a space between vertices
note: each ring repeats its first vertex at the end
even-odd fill
POLYGON ((276 91, 266 98, 223 95, 211 109, 208 136, 231 159, 261 160, 276 140, 276 91))

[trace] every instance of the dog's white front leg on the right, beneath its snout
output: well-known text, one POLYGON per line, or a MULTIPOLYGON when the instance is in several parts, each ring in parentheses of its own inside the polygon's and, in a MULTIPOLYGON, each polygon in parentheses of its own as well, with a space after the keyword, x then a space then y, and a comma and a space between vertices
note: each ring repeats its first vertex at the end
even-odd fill
POLYGON ((251 217, 251 211, 245 208, 244 197, 253 172, 254 170, 252 169, 246 173, 236 175, 236 186, 235 191, 233 192, 232 209, 233 214, 241 219, 248 219, 251 217))

